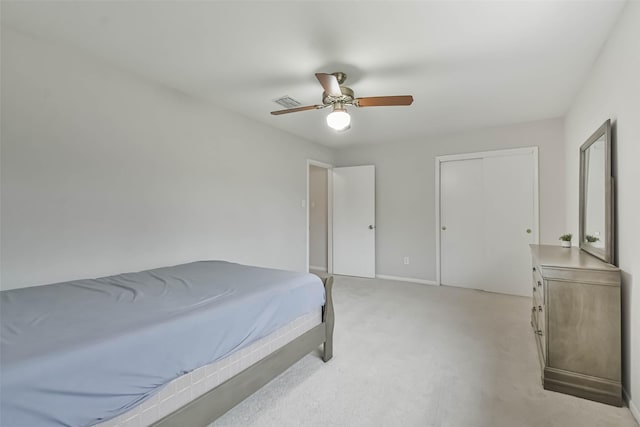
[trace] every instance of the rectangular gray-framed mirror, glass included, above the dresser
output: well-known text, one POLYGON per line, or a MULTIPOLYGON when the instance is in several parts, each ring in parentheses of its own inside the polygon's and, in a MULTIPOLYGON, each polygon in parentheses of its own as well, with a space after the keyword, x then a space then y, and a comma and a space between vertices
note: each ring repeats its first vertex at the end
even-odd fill
POLYGON ((613 262, 611 121, 580 147, 580 249, 613 262))

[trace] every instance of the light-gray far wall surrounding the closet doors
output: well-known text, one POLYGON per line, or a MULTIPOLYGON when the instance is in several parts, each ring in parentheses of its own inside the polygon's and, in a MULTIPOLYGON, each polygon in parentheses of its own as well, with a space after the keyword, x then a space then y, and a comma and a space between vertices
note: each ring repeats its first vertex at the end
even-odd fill
POLYGON ((434 159, 445 154, 538 146, 540 241, 557 244, 565 231, 563 132, 562 119, 552 119, 340 150, 338 166, 376 166, 376 274, 435 281, 434 159))

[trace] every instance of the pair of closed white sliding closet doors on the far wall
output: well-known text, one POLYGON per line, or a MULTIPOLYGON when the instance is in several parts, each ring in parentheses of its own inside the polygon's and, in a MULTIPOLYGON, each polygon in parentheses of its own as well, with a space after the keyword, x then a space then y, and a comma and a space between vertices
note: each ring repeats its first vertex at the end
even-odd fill
POLYGON ((442 284, 530 294, 536 170, 532 149, 440 163, 442 284))

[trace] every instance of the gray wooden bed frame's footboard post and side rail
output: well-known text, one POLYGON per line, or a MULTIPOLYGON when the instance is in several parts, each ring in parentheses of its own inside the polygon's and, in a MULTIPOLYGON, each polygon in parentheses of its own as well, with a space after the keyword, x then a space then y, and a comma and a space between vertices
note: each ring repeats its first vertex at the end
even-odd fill
POLYGON ((322 360, 333 357, 333 276, 323 279, 326 302, 322 323, 300 335, 284 347, 229 378, 219 386, 192 400, 152 424, 154 427, 208 426, 229 409, 242 402, 269 381, 286 371, 323 344, 322 360))

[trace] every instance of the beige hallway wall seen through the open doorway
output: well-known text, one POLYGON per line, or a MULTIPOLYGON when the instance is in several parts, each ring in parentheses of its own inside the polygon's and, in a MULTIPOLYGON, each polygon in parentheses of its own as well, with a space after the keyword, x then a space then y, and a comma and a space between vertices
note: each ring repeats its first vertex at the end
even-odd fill
POLYGON ((327 269, 327 169, 309 166, 309 266, 327 269))

